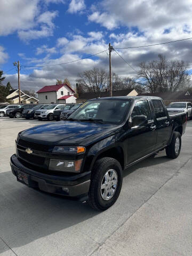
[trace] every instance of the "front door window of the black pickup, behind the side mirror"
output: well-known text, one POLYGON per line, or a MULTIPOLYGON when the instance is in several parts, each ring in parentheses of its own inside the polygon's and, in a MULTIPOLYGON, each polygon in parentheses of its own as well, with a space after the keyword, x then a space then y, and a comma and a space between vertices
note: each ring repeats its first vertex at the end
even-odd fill
POLYGON ((151 111, 147 100, 138 101, 132 111, 131 118, 134 116, 147 116, 147 120, 151 120, 151 111))

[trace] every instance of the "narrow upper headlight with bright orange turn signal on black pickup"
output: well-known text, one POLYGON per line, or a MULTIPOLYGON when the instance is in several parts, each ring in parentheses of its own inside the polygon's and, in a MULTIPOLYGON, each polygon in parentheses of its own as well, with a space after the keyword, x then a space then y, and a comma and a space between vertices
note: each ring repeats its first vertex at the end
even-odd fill
POLYGON ((82 146, 55 146, 53 148, 53 153, 79 155, 79 154, 85 153, 85 147, 82 147, 82 146))

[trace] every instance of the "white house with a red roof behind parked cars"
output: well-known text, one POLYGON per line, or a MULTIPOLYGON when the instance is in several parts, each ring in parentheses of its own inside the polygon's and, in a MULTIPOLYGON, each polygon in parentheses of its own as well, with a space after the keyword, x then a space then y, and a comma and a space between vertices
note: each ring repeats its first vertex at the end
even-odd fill
POLYGON ((46 85, 37 92, 39 103, 76 103, 74 93, 68 84, 46 85))

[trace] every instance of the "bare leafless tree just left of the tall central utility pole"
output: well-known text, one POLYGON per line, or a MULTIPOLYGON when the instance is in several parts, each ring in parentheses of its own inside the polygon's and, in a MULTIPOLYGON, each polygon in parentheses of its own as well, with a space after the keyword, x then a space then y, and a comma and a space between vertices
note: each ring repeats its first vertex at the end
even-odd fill
POLYGON ((105 70, 93 68, 78 74, 76 80, 86 92, 102 92, 108 90, 109 75, 105 70))

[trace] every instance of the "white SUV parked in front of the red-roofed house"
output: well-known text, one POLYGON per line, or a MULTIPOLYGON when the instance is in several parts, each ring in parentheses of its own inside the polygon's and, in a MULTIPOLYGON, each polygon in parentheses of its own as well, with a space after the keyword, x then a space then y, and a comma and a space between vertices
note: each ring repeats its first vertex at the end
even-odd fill
POLYGON ((60 106, 63 106, 63 104, 45 105, 43 108, 35 111, 34 117, 39 120, 47 119, 49 121, 52 121, 53 120, 53 111, 60 109, 60 106))

